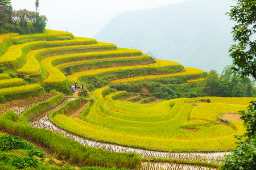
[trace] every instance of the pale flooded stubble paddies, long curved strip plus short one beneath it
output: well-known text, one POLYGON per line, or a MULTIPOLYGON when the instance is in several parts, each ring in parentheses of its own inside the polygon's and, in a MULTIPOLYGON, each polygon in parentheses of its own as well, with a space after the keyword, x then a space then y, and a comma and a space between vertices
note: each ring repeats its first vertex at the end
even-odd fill
MULTIPOLYGON (((67 98, 68 99, 68 98, 67 98)), ((74 100, 74 98, 69 98, 67 101, 74 100)), ((65 102, 57 106, 57 109, 64 107, 65 102)), ((69 131, 60 129, 58 126, 54 125, 49 121, 48 114, 56 109, 52 109, 47 113, 42 114, 42 116, 34 118, 30 122, 31 126, 43 129, 49 129, 53 132, 59 133, 64 137, 71 138, 74 141, 80 142, 81 145, 103 148, 104 150, 114 151, 114 152, 125 152, 125 153, 135 153, 141 155, 143 158, 166 158, 166 159, 175 159, 175 160, 197 160, 203 162, 211 163, 221 163, 221 159, 225 155, 229 155, 229 152, 219 152, 219 153, 168 153, 164 151, 152 151, 152 150, 142 150, 141 148, 126 147, 121 145, 116 145, 112 143, 93 141, 92 139, 81 137, 80 135, 73 134, 69 131), (45 116, 46 115, 46 116, 45 116)), ((81 111, 80 111, 81 112, 81 111)), ((70 116, 72 117, 72 115, 70 116)), ((204 165, 195 165, 195 164, 184 164, 184 163, 173 163, 173 162, 142 162, 141 169, 216 169, 212 167, 205 167, 204 165)))

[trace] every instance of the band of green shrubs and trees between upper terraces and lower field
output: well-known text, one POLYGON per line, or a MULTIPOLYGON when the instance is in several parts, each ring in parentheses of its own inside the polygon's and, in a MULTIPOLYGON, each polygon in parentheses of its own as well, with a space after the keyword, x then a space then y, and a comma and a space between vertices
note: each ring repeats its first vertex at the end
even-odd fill
MULTIPOLYGON (((247 77, 235 76, 232 66, 226 66, 222 74, 216 70, 204 73, 204 82, 186 83, 188 79, 197 79, 197 76, 179 76, 175 78, 162 78, 139 83, 124 83, 110 86, 118 91, 129 91, 143 93, 142 88, 148 88, 151 94, 163 99, 190 98, 200 96, 218 97, 256 97, 254 81, 247 77)), ((103 87, 101 80, 94 79, 98 85, 103 87)), ((108 82, 105 82, 106 84, 108 82)))

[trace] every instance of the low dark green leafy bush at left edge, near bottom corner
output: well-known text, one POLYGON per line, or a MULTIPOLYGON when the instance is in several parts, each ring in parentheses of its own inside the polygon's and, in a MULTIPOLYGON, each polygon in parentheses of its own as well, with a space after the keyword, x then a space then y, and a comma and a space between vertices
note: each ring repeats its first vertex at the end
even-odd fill
POLYGON ((32 146, 33 145, 31 143, 13 135, 6 134, 0 137, 0 150, 2 151, 16 150, 19 148, 32 148, 32 146))

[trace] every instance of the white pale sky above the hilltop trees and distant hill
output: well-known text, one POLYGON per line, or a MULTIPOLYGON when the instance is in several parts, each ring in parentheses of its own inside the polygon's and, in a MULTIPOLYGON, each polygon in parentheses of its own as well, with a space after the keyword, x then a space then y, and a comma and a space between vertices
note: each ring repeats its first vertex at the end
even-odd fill
MULTIPOLYGON (((93 37, 112 18, 125 11, 154 8, 191 0, 39 0, 39 13, 46 15, 47 29, 93 37)), ((11 0, 14 10, 35 11, 35 0, 11 0)))

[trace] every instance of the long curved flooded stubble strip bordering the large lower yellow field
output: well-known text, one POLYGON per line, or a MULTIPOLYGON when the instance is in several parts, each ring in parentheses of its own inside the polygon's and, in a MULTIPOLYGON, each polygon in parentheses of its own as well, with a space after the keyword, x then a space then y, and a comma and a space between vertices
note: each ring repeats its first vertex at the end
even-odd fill
POLYGON ((163 151, 151 151, 151 150, 143 150, 141 148, 134 148, 134 147, 126 147, 122 145, 115 145, 106 142, 98 142, 93 141, 92 139, 83 138, 80 135, 76 135, 73 133, 69 133, 63 129, 60 129, 56 125, 52 124, 49 121, 48 116, 40 118, 39 120, 33 122, 31 126, 43 129, 49 129, 53 132, 60 133, 64 137, 71 138, 74 141, 80 142, 82 145, 102 148, 104 150, 114 151, 114 152, 126 152, 126 153, 135 153, 137 155, 141 155, 143 158, 163 158, 163 159, 176 159, 176 160, 198 160, 202 162, 212 162, 212 163, 221 163, 221 160, 224 158, 225 155, 229 155, 230 152, 215 152, 215 153, 168 153, 163 151))

